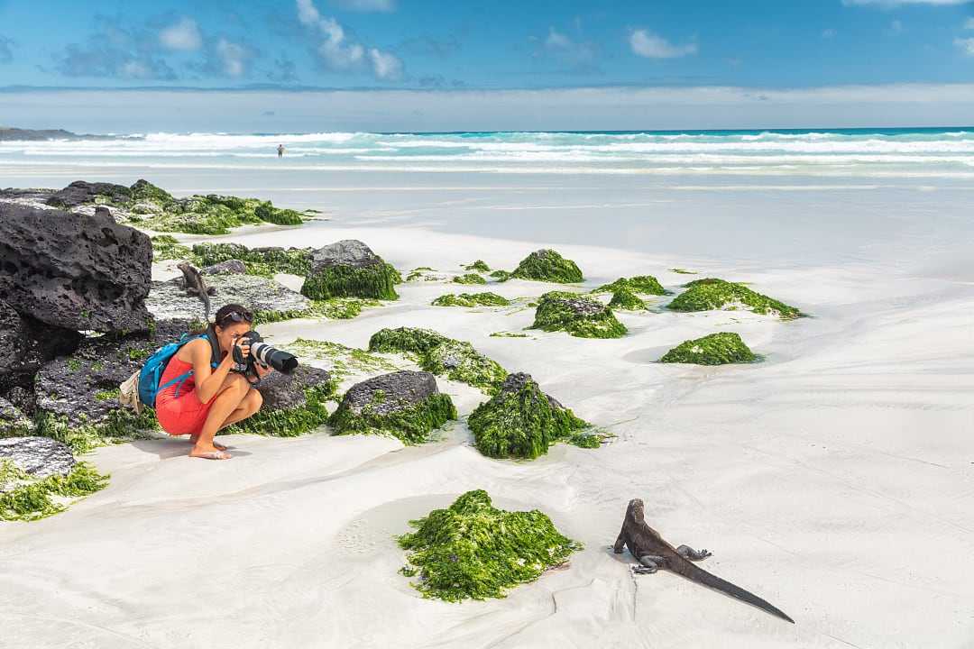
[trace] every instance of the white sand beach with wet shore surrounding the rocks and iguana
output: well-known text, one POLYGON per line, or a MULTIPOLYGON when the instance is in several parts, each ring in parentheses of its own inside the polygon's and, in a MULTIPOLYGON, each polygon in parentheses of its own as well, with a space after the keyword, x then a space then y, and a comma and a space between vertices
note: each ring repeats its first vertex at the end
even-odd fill
MULTIPOLYGON (((618 340, 493 338, 521 332, 534 309, 430 306, 465 287, 411 282, 397 287, 399 301, 352 320, 262 326, 282 348, 299 336, 364 347, 383 327, 430 327, 530 373, 617 437, 530 462, 481 455, 463 420, 419 447, 321 429, 225 438, 234 457, 223 462, 187 457, 185 439, 99 449, 88 459, 111 474, 109 487, 56 517, 0 524, 0 646, 971 646, 966 181, 348 173, 301 191, 316 187, 304 172, 230 180, 118 168, 98 179, 151 173, 181 194, 273 198, 331 218, 214 240, 358 238, 396 268, 451 273, 475 259, 511 269, 554 247, 578 262, 586 288, 620 275, 653 274, 674 290, 727 277, 811 317, 623 311, 629 334, 618 340), (765 360, 655 362, 717 331, 739 333, 765 360), (506 509, 542 510, 584 550, 504 599, 422 598, 397 573, 393 536, 473 488, 506 509), (709 549, 702 567, 796 624, 665 571, 633 575, 633 559, 610 546, 636 497, 667 540, 709 549)), ((63 176, 5 184, 59 187, 63 176)), ((556 287, 484 288, 514 297, 556 287)), ((486 399, 438 382, 462 418, 486 399)))

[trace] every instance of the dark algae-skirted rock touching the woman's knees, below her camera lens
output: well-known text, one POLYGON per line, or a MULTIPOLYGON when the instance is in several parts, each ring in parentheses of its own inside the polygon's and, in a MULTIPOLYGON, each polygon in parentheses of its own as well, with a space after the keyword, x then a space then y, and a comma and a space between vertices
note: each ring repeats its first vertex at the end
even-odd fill
POLYGON ((297 437, 309 433, 327 422, 325 403, 335 393, 335 381, 324 370, 299 365, 290 375, 272 372, 257 389, 264 400, 260 410, 220 434, 297 437))

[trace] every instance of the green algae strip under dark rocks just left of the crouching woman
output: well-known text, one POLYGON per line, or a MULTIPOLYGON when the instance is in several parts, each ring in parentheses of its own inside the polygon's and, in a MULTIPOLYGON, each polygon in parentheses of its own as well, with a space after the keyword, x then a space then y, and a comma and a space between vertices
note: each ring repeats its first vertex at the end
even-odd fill
POLYGON ((82 420, 78 424, 69 423, 63 415, 40 411, 34 417, 34 423, 35 435, 63 442, 75 455, 109 444, 146 439, 149 433, 160 429, 156 413, 151 408, 142 410, 138 415, 126 408, 116 408, 103 421, 95 423, 82 420))

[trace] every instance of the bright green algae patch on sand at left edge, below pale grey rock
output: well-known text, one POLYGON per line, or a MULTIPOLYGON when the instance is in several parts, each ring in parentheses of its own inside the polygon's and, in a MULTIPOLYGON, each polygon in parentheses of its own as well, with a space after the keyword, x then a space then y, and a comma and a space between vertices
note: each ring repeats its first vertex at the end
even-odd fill
POLYGON ((9 459, 0 459, 0 521, 37 521, 66 509, 60 498, 81 498, 108 486, 109 476, 98 473, 88 462, 78 462, 66 476, 36 480, 19 470, 9 459))

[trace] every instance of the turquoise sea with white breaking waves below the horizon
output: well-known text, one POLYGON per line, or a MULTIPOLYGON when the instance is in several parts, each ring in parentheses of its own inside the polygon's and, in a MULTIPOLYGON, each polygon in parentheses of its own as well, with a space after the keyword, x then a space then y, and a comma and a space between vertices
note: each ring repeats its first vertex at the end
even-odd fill
POLYGON ((5 167, 969 178, 974 127, 302 134, 0 143, 5 167), (286 154, 278 160, 276 149, 286 154))

